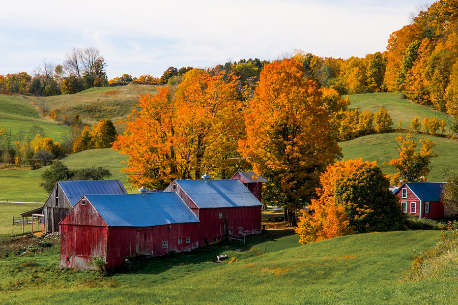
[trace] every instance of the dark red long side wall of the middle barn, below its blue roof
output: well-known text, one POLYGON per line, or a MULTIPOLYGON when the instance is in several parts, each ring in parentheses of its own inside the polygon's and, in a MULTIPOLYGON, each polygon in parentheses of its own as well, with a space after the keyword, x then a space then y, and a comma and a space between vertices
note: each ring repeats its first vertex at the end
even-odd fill
POLYGON ((229 234, 232 236, 256 234, 261 232, 261 206, 201 208, 200 236, 209 242, 218 241, 229 234), (222 218, 218 218, 219 213, 222 218), (241 233, 240 233, 241 232, 241 233))

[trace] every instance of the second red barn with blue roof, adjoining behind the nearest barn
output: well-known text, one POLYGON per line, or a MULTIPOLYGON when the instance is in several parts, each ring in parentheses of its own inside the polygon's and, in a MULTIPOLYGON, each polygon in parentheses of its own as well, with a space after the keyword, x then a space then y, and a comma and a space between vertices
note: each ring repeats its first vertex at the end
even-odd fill
POLYGON ((199 219, 201 243, 261 232, 262 204, 238 179, 175 180, 165 191, 177 192, 199 219))

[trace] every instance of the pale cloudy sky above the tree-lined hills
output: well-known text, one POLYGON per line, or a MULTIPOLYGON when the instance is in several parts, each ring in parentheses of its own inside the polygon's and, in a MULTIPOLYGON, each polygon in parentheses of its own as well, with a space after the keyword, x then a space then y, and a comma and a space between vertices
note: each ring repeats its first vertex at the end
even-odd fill
MULTIPOLYGON (((431 2, 430 2, 431 3, 431 2)), ((107 76, 160 77, 169 66, 277 59, 294 49, 348 58, 384 51, 426 2, 8 1, 0 7, 0 74, 30 74, 73 47, 95 47, 107 76)))

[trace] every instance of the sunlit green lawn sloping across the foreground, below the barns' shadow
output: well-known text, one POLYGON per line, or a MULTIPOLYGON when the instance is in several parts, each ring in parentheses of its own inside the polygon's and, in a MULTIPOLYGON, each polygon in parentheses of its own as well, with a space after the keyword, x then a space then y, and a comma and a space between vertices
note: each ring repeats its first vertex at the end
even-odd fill
POLYGON ((59 251, 53 247, 35 256, 0 260, 0 285, 12 290, 0 294, 0 303, 457 304, 456 276, 400 280, 425 243, 434 244, 439 234, 369 233, 305 246, 298 244, 297 235, 269 241, 249 237, 253 246, 231 243, 153 258, 106 280, 94 280, 92 272, 55 268, 59 251), (217 254, 238 261, 214 263, 217 254), (100 285, 105 287, 89 288, 100 285))

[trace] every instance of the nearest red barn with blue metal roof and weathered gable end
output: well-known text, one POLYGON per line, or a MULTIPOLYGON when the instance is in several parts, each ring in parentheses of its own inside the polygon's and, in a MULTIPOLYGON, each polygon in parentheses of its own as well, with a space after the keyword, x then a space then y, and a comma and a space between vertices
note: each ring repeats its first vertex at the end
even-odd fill
POLYGON ((126 257, 163 255, 199 246, 199 220, 175 192, 85 195, 61 221, 61 267, 106 268, 126 257))

